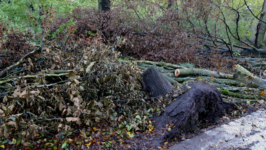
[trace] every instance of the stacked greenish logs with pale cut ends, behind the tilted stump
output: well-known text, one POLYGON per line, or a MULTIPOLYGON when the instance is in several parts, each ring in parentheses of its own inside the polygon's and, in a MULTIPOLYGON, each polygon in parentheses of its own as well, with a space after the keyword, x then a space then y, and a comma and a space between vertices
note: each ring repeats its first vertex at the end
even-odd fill
MULTIPOLYGON (((222 96, 237 100, 234 103, 264 103, 266 80, 264 77, 257 77, 253 73, 240 66, 234 65, 234 74, 220 73, 206 69, 197 69, 185 64, 169 64, 165 62, 150 62, 137 60, 137 67, 146 69, 153 64, 161 69, 163 76, 170 83, 179 82, 178 85, 186 84, 191 81, 206 81, 222 92, 222 96), (181 83, 181 84, 180 84, 181 83)), ((225 101, 224 103, 231 103, 225 101)))

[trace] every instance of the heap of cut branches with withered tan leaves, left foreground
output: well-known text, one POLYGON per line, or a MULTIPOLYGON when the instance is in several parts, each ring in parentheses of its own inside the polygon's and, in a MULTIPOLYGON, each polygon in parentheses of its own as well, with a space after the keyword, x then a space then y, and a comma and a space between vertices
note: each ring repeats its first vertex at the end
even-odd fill
POLYGON ((51 43, 9 62, 0 72, 0 138, 60 137, 99 124, 131 136, 148 129, 151 105, 139 91, 141 70, 118 59, 124 42, 95 37, 90 47, 66 53, 51 43))

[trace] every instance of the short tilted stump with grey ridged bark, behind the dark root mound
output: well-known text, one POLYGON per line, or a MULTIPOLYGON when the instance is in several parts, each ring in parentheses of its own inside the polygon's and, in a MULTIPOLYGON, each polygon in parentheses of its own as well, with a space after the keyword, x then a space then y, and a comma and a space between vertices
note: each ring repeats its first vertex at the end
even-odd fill
POLYGON ((174 88, 156 65, 149 67, 140 76, 143 78, 145 92, 152 97, 165 96, 174 88))

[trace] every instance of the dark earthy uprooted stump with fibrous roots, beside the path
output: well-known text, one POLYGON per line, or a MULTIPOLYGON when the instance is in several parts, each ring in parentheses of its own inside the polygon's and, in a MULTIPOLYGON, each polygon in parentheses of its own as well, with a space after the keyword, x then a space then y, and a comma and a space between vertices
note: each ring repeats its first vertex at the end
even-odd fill
POLYGON ((181 138, 199 130, 199 124, 217 121, 224 115, 223 99, 217 88, 204 82, 193 82, 188 86, 191 89, 172 101, 160 116, 154 113, 152 120, 158 126, 157 131, 164 132, 156 137, 158 141, 181 138))

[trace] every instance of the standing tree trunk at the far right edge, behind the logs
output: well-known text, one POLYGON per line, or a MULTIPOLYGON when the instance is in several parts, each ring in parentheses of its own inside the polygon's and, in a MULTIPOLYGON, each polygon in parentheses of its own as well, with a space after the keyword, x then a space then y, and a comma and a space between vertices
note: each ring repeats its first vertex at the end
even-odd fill
MULTIPOLYGON (((266 0, 263 2, 262 10, 260 14, 260 20, 266 22, 266 0)), ((263 40, 264 40, 264 35, 265 35, 265 30, 266 30, 266 24, 259 21, 257 25, 257 33, 256 33, 256 38, 255 38, 255 45, 258 47, 262 47, 263 45, 263 40)))

